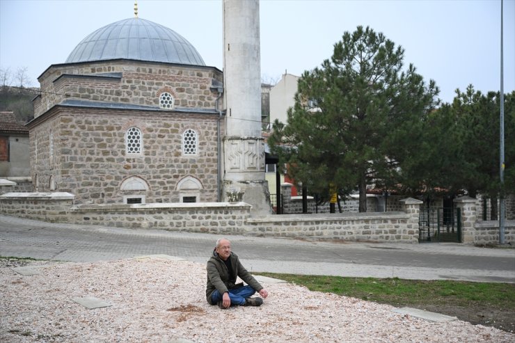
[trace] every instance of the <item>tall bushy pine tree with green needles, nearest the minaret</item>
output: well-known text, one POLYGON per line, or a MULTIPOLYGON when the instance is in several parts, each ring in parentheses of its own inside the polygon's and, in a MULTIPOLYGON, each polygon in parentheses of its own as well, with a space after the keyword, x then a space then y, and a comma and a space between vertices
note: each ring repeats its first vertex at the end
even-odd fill
POLYGON ((438 88, 415 67, 403 70, 404 49, 382 33, 358 26, 334 45, 333 56, 303 73, 287 125, 274 123, 271 151, 288 173, 324 200, 399 183, 400 167, 419 148, 423 122, 438 88))

